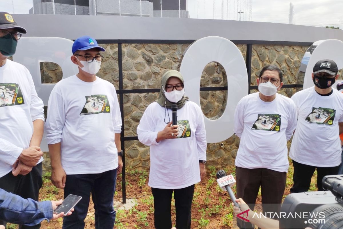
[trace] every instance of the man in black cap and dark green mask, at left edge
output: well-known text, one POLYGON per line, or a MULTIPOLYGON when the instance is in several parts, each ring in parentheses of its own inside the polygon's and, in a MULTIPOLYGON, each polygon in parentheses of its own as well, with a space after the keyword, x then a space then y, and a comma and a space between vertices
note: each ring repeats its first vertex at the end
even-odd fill
MULTIPOLYGON (((8 59, 25 28, 0 12, 0 188, 38 201, 42 186, 43 102, 32 76, 8 59)), ((0 221, 0 225, 5 222, 0 221)), ((21 228, 40 228, 22 226, 21 228)))

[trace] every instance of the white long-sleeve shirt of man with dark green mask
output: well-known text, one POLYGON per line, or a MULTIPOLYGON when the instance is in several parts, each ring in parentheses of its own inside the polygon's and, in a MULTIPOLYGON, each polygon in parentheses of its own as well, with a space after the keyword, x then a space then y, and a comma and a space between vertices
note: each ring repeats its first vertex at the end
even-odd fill
POLYGON ((30 72, 7 59, 0 67, 0 177, 12 170, 21 152, 29 147, 33 121, 44 121, 43 112, 30 72))

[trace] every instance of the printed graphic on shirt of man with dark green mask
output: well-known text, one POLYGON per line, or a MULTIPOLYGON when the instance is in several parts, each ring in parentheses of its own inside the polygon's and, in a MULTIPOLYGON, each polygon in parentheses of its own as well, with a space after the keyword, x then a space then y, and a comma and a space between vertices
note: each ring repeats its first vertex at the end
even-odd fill
POLYGON ((0 83, 0 107, 22 105, 23 93, 17 83, 0 83))

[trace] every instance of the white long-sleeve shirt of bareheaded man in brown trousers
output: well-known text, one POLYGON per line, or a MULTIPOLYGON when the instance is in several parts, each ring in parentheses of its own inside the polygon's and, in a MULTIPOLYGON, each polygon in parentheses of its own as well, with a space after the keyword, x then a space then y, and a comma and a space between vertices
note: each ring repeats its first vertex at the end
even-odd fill
POLYGON ((236 166, 288 171, 287 140, 297 124, 291 99, 276 94, 273 101, 264 102, 259 92, 249 94, 237 104, 234 120, 240 138, 236 166))

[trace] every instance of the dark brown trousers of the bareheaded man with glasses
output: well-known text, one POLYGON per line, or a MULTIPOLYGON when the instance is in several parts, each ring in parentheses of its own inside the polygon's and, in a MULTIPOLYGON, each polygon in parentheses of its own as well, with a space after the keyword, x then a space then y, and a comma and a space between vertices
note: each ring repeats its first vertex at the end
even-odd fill
MULTIPOLYGON (((286 172, 271 169, 245 169, 236 167, 237 198, 242 198, 251 210, 261 186, 262 209, 265 212, 279 212, 286 187, 286 172)), ((253 228, 250 222, 237 219, 239 228, 253 228)))

